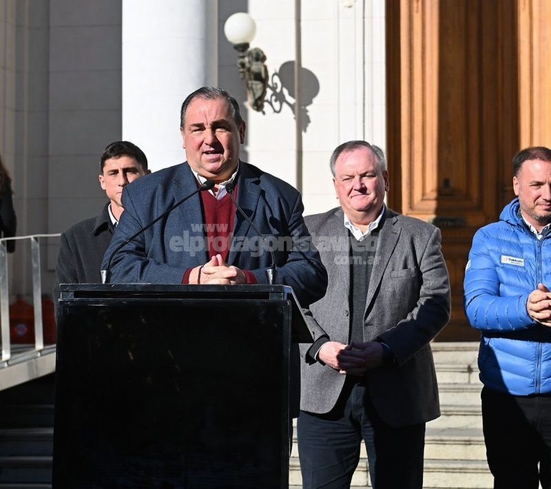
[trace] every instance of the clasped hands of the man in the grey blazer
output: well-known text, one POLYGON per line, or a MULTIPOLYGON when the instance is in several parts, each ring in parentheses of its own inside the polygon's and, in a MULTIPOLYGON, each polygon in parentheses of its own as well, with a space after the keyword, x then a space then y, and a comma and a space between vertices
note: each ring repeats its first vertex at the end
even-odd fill
POLYGON ((383 347, 379 342, 353 342, 349 345, 326 342, 318 357, 339 373, 361 377, 369 368, 382 365, 383 347))

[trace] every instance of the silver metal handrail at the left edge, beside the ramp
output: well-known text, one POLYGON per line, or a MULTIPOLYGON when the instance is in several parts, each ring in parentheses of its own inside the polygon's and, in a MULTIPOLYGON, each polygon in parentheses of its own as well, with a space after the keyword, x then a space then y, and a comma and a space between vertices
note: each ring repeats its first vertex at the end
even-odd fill
MULTIPOLYGON (((41 282, 41 260, 39 238, 57 238, 61 233, 32 234, 29 236, 14 236, 13 238, 0 238, 0 339, 2 344, 3 366, 14 364, 22 358, 28 357, 29 352, 25 351, 12 357, 12 345, 10 340, 10 303, 9 303, 9 277, 8 277, 8 250, 6 243, 12 240, 30 240, 32 259, 32 302, 34 306, 34 353, 40 356, 44 350, 44 332, 42 320, 42 282, 41 282), (21 357, 21 358, 19 358, 21 357), (10 361, 11 360, 11 361, 10 361)), ((48 348, 50 350, 51 347, 48 348)))

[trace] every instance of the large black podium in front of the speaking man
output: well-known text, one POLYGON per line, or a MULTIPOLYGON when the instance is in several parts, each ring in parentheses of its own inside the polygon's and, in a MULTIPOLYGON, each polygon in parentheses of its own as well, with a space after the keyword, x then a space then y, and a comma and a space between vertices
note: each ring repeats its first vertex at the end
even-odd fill
POLYGON ((54 488, 289 487, 290 287, 60 289, 54 488))

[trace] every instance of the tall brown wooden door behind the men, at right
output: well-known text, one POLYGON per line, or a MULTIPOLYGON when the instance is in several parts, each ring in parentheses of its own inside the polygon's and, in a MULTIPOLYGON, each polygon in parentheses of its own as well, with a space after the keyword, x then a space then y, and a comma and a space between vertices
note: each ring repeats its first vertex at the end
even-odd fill
POLYGON ((452 318, 437 340, 477 340, 472 236, 514 197, 514 154, 551 146, 550 14, 548 0, 387 0, 388 203, 441 229, 452 318))

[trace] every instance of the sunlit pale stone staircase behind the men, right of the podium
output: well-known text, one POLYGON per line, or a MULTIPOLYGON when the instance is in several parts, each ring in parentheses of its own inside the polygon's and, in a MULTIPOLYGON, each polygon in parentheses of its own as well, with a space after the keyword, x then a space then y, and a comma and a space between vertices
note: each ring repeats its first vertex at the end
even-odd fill
MULTIPOLYGON (((424 488, 492 488, 482 435, 478 343, 435 342, 432 346, 441 417, 426 427, 424 488)), ((293 441, 289 486, 300 489, 298 448, 296 439, 293 441)), ((364 448, 351 487, 371 487, 364 448)))

